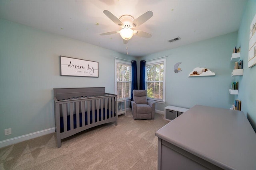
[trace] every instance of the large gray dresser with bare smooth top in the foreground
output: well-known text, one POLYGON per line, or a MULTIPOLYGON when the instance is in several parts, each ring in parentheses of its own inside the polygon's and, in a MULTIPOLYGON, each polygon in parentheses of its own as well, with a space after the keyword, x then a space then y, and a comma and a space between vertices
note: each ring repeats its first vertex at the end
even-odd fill
POLYGON ((156 136, 158 170, 256 170, 256 134, 242 111, 196 105, 156 136))

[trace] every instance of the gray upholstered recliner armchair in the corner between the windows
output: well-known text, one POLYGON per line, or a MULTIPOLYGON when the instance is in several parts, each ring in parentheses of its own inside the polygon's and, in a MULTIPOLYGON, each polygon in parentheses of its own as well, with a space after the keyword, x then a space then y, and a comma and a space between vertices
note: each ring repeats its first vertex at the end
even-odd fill
POLYGON ((132 115, 134 119, 154 119, 156 104, 148 102, 147 90, 133 90, 132 115))

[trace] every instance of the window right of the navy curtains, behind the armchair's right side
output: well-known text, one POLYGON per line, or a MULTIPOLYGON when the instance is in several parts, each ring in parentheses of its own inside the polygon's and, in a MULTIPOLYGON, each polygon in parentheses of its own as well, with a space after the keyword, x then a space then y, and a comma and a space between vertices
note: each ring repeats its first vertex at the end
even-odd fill
POLYGON ((165 102, 165 61, 146 62, 145 89, 149 100, 165 102))

